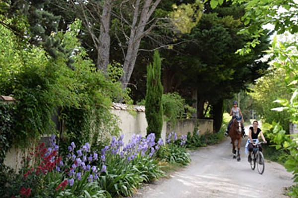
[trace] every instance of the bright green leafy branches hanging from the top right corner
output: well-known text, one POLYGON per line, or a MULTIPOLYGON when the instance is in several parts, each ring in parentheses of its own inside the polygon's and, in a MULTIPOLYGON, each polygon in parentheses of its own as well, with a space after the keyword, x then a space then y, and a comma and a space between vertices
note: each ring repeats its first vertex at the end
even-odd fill
MULTIPOLYGON (((241 18, 244 24, 249 24, 239 33, 251 35, 254 39, 247 42, 240 54, 250 53, 256 45, 260 44, 260 37, 264 34, 263 26, 272 24, 278 34, 286 31, 294 34, 298 32, 298 24, 293 23, 293 17, 298 17, 296 12, 298 3, 295 0, 226 0, 234 4, 245 5, 245 15, 241 18), (283 10, 283 11, 281 11, 283 10)), ((209 2, 205 1, 205 2, 209 2)), ((210 0, 212 8, 222 5, 224 0, 210 0)))

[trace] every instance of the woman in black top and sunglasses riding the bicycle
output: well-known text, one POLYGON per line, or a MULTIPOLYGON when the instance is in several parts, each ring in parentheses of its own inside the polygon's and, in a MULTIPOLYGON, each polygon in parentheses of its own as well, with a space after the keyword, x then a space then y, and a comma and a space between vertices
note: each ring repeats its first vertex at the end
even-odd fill
MULTIPOLYGON (((253 148, 256 146, 255 143, 257 143, 259 140, 258 140, 258 136, 261 135, 264 143, 266 143, 266 139, 261 131, 260 128, 258 128, 259 126, 259 123, 258 121, 253 121, 252 123, 252 127, 249 128, 249 135, 248 135, 248 140, 247 140, 247 143, 246 143, 246 146, 248 148, 248 152, 249 152, 249 155, 248 155, 248 162, 250 163, 251 162, 251 152, 253 150, 253 148)), ((259 145, 259 150, 262 152, 262 146, 259 145)))

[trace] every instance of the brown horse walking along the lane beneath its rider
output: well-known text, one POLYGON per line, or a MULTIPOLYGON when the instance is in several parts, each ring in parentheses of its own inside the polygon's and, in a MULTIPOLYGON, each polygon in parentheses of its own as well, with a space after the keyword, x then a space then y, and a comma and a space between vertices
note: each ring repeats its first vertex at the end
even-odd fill
POLYGON ((233 123, 231 125, 231 128, 229 130, 229 135, 232 139, 232 144, 233 144, 233 159, 236 159, 236 146, 235 146, 235 141, 238 141, 238 156, 237 156, 237 161, 240 161, 240 145, 241 145, 241 140, 242 140, 242 136, 241 136, 241 127, 239 124, 239 121, 237 121, 236 118, 233 119, 233 123))

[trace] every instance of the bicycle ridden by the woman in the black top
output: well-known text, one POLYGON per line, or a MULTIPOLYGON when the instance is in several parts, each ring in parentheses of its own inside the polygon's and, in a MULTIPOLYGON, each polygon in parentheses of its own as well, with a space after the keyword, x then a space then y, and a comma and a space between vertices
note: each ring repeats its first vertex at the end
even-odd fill
POLYGON ((252 170, 254 170, 257 164, 258 172, 262 175, 265 170, 265 160, 264 160, 263 153, 259 150, 259 145, 264 144, 264 142, 258 142, 255 144, 256 144, 256 147, 253 148, 253 151, 250 153, 250 157, 251 157, 250 167, 252 170))

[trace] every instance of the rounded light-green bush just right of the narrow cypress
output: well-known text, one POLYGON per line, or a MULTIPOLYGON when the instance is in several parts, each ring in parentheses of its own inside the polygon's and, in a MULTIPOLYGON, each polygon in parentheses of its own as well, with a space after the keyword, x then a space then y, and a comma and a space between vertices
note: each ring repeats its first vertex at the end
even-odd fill
POLYGON ((178 119, 189 118, 191 116, 189 114, 195 111, 177 92, 163 94, 162 107, 163 115, 166 116, 165 121, 169 122, 172 127, 178 119))

